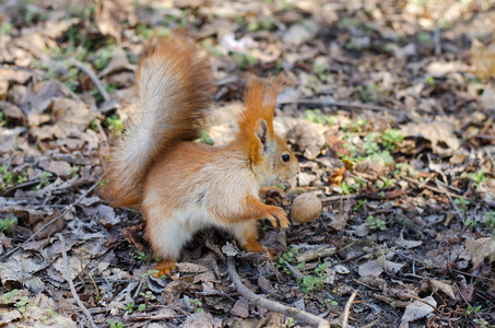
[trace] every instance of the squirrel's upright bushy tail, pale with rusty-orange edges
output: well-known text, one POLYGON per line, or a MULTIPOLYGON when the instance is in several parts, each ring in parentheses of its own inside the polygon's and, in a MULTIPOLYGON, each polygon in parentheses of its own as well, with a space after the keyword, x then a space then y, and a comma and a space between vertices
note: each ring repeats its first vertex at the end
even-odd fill
POLYGON ((213 94, 208 58, 184 36, 162 39, 141 56, 135 92, 104 190, 116 207, 139 208, 151 165, 177 142, 199 137, 213 94))

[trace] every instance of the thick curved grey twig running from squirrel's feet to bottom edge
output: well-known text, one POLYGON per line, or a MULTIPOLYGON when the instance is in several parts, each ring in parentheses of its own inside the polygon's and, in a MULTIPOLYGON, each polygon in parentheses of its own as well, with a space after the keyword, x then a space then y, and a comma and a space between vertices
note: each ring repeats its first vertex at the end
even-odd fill
POLYGON ((285 306, 283 304, 270 301, 263 296, 255 294, 251 290, 249 290, 247 286, 245 286, 244 283, 240 281, 240 278, 237 274, 237 271, 235 270, 235 262, 234 262, 234 258, 232 256, 229 256, 227 258, 227 267, 228 267, 228 274, 231 276, 231 280, 236 285, 237 291, 239 292, 240 295, 243 295, 246 300, 250 301, 251 303, 254 303, 258 306, 268 308, 270 311, 283 314, 287 317, 292 317, 296 320, 300 320, 306 324, 313 325, 318 328, 330 328, 331 326, 333 326, 333 327, 338 326, 337 321, 328 321, 326 319, 317 317, 305 311, 285 306))

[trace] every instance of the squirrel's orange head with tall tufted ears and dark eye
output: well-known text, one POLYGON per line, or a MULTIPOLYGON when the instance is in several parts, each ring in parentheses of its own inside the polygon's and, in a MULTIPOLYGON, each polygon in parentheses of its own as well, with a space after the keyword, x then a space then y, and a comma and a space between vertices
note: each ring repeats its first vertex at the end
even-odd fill
POLYGON ((280 77, 263 94, 264 83, 252 81, 246 90, 237 141, 247 149, 249 166, 262 186, 273 186, 294 177, 299 164, 285 141, 273 131, 273 115, 281 86, 280 77))

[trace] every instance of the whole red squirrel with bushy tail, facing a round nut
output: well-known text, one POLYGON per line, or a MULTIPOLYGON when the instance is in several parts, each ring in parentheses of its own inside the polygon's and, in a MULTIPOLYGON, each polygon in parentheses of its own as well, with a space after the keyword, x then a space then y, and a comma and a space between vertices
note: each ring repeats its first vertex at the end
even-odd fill
POLYGON ((138 65, 127 132, 108 162, 105 197, 144 215, 145 237, 162 258, 156 277, 172 273, 185 244, 204 227, 231 232, 246 251, 262 253, 258 220, 275 227, 280 222, 282 229, 290 224, 282 208, 261 201, 283 197, 270 186, 299 172, 273 131, 280 77, 270 87, 258 81, 246 87, 238 132, 220 147, 193 142, 211 112, 212 80, 208 57, 186 37, 148 47, 138 65))

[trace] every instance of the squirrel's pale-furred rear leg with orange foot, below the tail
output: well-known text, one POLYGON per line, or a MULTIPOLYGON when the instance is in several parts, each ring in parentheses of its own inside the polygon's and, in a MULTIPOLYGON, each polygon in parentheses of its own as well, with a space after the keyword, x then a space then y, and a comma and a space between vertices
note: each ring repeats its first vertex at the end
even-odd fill
POLYGON ((180 224, 166 210, 156 207, 143 210, 146 219, 146 238, 153 253, 162 258, 154 268, 158 271, 156 278, 170 274, 184 245, 192 237, 192 233, 189 232, 188 226, 180 224))

